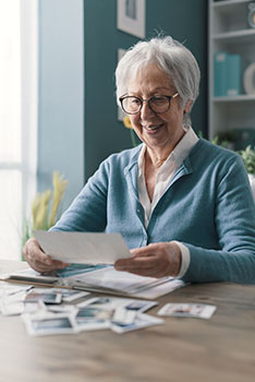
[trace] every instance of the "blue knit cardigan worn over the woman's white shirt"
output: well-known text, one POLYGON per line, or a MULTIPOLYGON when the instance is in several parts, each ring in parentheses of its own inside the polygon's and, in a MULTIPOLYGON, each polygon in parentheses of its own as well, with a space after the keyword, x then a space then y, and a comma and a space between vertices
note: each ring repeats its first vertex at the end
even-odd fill
POLYGON ((141 147, 107 158, 52 229, 120 232, 130 249, 178 240, 191 252, 184 280, 255 284, 255 205, 241 157, 199 139, 146 229, 141 147))

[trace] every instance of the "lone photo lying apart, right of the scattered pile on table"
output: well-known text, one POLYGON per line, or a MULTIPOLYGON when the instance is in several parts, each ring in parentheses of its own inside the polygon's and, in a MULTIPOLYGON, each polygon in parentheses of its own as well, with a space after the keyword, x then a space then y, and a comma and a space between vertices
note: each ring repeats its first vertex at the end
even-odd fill
POLYGON ((183 317, 196 319, 210 319, 216 311, 216 306, 204 303, 167 303, 158 315, 183 317))

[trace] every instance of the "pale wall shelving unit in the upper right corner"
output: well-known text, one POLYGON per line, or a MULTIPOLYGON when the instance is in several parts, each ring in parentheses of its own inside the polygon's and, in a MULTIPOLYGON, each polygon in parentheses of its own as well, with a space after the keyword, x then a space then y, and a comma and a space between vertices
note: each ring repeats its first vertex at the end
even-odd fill
POLYGON ((245 69, 255 62, 255 28, 247 24, 247 4, 251 0, 208 0, 209 19, 209 139, 233 129, 255 130, 255 94, 215 96, 214 60, 216 52, 240 55, 242 60, 241 84, 245 69))

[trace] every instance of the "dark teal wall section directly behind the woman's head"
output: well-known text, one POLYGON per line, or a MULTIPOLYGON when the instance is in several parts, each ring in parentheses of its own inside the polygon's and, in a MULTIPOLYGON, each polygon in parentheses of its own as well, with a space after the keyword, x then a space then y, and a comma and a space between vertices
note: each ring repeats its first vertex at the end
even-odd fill
MULTIPOLYGON (((192 112, 196 131, 206 133, 207 9, 204 0, 147 0, 146 37, 155 29, 185 41, 202 70, 201 96, 192 112)), ((118 48, 138 38, 117 29, 116 0, 84 0, 85 179, 109 154, 131 146, 130 132, 117 119, 114 68, 118 48)))

